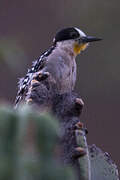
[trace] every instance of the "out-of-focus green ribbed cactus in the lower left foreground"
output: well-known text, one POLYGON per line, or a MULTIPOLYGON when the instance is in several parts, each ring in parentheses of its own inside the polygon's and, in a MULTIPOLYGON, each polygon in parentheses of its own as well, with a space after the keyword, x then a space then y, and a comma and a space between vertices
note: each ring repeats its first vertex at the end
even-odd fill
POLYGON ((55 158, 57 121, 28 107, 0 107, 0 179, 73 180, 55 158))

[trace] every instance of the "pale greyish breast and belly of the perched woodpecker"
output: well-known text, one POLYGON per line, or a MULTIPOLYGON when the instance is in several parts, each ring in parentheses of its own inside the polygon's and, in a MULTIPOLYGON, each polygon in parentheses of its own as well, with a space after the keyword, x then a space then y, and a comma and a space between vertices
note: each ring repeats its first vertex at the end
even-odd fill
POLYGON ((76 81, 75 58, 65 52, 53 53, 46 64, 45 71, 54 78, 59 93, 72 91, 76 81))

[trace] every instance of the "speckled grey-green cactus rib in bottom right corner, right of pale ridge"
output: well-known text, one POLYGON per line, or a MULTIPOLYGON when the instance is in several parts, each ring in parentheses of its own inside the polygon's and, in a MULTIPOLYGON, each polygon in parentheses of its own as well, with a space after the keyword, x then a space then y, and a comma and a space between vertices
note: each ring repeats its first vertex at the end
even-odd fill
POLYGON ((95 145, 89 146, 92 180, 119 180, 117 166, 108 153, 95 145))

